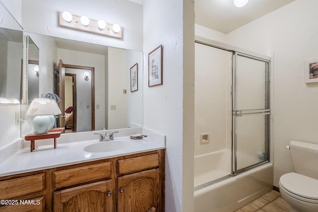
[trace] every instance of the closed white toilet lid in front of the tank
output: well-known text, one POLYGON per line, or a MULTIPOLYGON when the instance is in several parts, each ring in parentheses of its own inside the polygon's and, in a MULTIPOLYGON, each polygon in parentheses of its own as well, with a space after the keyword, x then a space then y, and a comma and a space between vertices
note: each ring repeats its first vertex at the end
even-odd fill
POLYGON ((318 180, 314 178, 292 172, 281 176, 279 183, 293 194, 318 200, 318 180))

